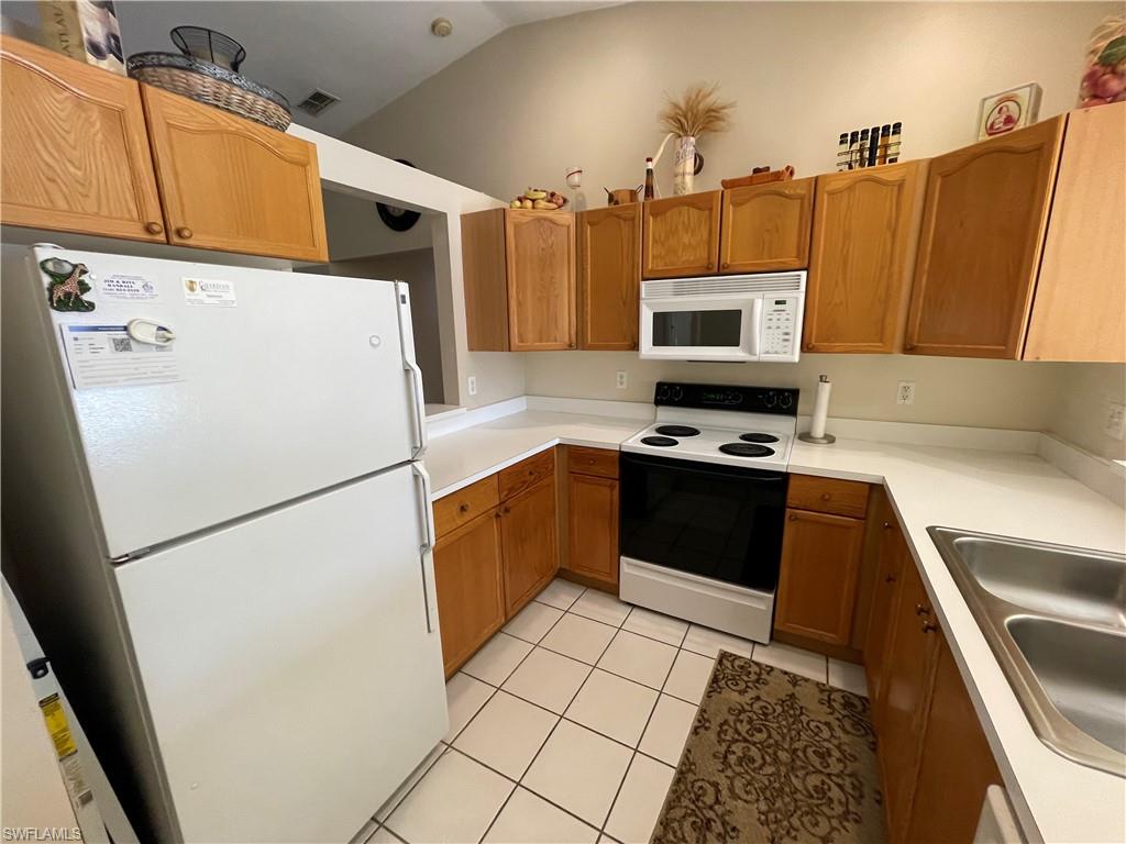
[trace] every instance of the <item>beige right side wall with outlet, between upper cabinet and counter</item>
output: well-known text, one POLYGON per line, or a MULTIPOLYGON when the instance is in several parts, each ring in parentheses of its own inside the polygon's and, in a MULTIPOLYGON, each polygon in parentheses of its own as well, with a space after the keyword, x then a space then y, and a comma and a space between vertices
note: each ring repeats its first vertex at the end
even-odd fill
POLYGON ((1126 366, 1057 363, 1061 389, 1047 430, 1100 457, 1126 459, 1126 442, 1108 437, 1111 404, 1126 404, 1126 366))

